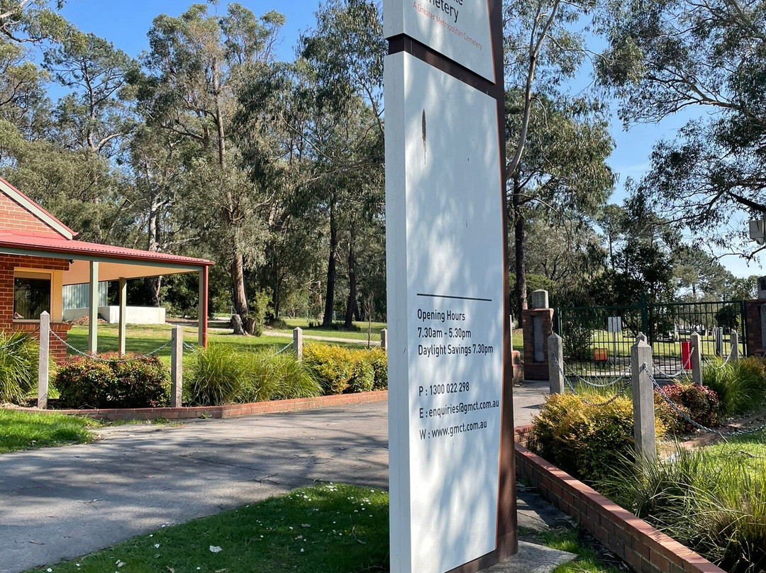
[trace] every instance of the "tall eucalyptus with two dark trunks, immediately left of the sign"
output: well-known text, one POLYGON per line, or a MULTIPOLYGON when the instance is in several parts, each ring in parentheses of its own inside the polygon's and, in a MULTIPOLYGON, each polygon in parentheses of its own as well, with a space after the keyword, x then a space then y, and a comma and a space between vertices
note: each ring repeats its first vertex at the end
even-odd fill
MULTIPOLYGON (((300 39, 312 74, 309 93, 329 224, 324 326, 332 323, 342 231, 348 237, 349 296, 345 326, 358 316, 357 242, 362 228, 383 210, 383 38, 381 12, 372 0, 330 0, 316 12, 316 28, 300 39), (321 144, 319 144, 321 142, 321 144)), ((378 228, 379 231, 379 228, 378 228)))

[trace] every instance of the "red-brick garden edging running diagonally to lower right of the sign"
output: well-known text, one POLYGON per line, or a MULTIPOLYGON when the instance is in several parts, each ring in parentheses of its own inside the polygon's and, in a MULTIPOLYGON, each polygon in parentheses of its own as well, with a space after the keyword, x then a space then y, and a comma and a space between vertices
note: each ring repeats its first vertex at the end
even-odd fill
POLYGON ((593 488, 527 450, 532 426, 516 428, 516 474, 580 522, 635 573, 726 573, 593 488))

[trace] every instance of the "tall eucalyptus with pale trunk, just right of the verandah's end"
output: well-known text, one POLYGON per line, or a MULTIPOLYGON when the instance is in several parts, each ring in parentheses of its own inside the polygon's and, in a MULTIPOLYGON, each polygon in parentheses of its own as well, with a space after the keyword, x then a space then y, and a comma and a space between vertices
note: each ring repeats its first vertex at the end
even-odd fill
POLYGON ((245 267, 263 255, 264 224, 254 216, 258 189, 241 169, 231 124, 244 78, 273 63, 283 23, 277 11, 258 18, 235 3, 221 17, 201 4, 177 18, 160 15, 136 82, 146 121, 198 148, 188 163, 191 182, 201 211, 214 211, 211 244, 230 269, 234 309, 245 318, 245 267))

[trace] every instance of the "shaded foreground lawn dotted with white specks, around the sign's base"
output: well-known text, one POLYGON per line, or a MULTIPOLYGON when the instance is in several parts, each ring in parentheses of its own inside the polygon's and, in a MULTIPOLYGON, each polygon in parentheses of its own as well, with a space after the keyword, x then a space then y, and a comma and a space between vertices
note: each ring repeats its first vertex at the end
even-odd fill
MULTIPOLYGON (((616 573, 575 530, 532 539, 581 557, 555 573, 616 573)), ((388 571, 388 493, 307 487, 252 506, 139 535, 50 568, 57 573, 374 573, 388 571)))

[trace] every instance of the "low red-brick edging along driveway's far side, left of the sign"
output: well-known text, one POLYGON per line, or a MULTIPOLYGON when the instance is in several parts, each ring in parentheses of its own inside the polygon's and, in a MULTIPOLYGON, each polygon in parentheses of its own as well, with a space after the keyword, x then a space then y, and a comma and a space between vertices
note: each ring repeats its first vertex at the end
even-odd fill
POLYGON ((345 404, 369 404, 388 400, 388 390, 359 392, 358 394, 340 394, 319 396, 317 398, 295 398, 293 400, 273 400, 270 402, 254 402, 251 404, 231 404, 228 406, 197 406, 193 408, 116 408, 96 410, 38 410, 37 408, 13 408, 15 410, 31 411, 38 414, 67 414, 73 416, 93 417, 100 420, 189 420, 197 417, 237 417, 250 414, 267 414, 276 412, 292 412, 309 410, 326 406, 342 406, 345 404))

